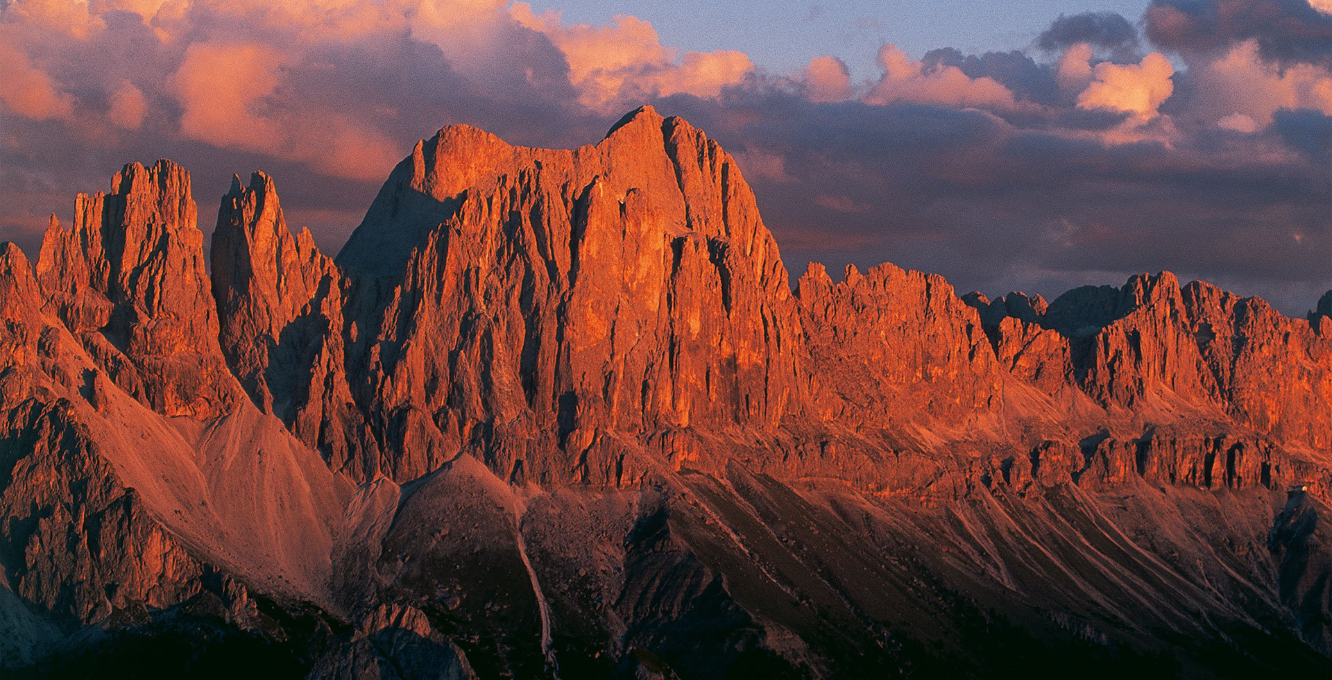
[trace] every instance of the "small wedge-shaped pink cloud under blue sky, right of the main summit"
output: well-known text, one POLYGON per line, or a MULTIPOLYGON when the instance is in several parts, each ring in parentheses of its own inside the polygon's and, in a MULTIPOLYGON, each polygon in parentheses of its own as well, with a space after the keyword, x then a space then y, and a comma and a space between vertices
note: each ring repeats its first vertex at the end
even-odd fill
POLYGON ((879 49, 883 76, 870 91, 868 104, 938 104, 954 108, 1014 109, 1018 103, 1008 88, 983 76, 972 79, 958 67, 934 65, 926 68, 896 45, 879 49))

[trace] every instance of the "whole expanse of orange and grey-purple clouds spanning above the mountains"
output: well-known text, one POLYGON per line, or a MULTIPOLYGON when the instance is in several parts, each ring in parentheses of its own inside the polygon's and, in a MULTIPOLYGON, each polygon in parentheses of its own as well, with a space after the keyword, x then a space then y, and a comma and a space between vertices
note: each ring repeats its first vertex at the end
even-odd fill
POLYGON ((204 215, 232 172, 270 171, 336 251, 442 124, 573 147, 653 103, 735 155, 795 269, 1048 296, 1172 268, 1297 309, 1332 287, 1332 88, 1327 17, 1292 1, 1158 0, 1143 25, 1180 73, 1123 17, 1076 15, 1027 51, 888 45, 856 83, 850 55, 779 73, 506 0, 0 0, 0 239, 31 247, 73 192, 172 157, 204 215))

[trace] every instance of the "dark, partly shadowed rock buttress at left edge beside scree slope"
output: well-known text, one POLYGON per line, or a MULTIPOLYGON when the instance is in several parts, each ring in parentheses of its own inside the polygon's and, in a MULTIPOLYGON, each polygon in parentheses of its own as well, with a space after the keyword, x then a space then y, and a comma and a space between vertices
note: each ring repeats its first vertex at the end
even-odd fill
POLYGON ((176 604, 201 565, 123 485, 72 400, 96 400, 87 355, 44 308, 32 267, 0 249, 0 565, 8 589, 57 623, 129 603, 176 604))

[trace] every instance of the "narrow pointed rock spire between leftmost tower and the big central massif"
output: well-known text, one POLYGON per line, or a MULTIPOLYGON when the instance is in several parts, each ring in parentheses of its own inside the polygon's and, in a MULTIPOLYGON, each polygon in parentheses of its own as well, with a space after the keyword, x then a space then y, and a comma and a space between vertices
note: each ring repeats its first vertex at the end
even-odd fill
POLYGON ((378 447, 346 383, 345 281, 309 229, 292 236, 272 177, 232 179, 212 257, 221 347, 241 387, 333 469, 373 479, 378 447))

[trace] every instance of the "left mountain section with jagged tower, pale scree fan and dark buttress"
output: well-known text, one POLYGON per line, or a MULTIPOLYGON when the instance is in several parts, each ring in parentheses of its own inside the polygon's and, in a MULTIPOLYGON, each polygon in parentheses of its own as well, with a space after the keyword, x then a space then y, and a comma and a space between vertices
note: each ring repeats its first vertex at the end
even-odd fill
POLYGON ((333 600, 349 485, 228 371, 193 205, 182 169, 129 165, 73 231, 52 221, 36 269, 0 257, 0 563, 63 631, 220 600, 230 635, 260 625, 245 584, 333 600))

